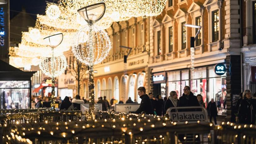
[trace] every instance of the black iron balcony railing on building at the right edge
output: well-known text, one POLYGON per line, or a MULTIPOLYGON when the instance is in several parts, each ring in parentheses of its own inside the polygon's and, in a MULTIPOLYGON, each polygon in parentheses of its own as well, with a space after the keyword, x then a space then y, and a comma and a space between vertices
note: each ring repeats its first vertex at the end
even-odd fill
POLYGON ((243 45, 254 44, 255 34, 253 33, 253 27, 243 28, 243 45))

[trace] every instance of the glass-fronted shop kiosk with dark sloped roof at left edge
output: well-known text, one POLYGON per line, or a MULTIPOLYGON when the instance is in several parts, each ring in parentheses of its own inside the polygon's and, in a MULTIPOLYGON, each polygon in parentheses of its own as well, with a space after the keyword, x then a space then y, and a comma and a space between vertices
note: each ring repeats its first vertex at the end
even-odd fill
POLYGON ((31 107, 31 77, 36 72, 24 72, 0 60, 0 109, 31 107))

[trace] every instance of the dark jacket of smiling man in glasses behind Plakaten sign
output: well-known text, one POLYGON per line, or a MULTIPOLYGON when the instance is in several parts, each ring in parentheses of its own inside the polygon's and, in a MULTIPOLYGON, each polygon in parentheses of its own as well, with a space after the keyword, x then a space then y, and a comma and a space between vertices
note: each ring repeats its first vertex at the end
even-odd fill
MULTIPOLYGON (((190 94, 188 96, 186 96, 183 93, 182 96, 180 97, 178 107, 182 107, 182 106, 200 106, 200 105, 198 103, 197 97, 192 92, 190 92, 190 94), (188 99, 186 97, 188 97, 188 99)), ((200 110, 198 110, 198 109, 179 109, 179 111, 200 111, 200 110)))

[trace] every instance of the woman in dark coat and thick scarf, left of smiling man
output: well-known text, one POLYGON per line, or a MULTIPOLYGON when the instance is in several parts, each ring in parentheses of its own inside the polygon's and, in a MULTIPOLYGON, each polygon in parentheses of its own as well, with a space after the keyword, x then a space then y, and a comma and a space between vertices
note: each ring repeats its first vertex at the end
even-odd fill
MULTIPOLYGON (((176 91, 171 91, 170 96, 164 104, 164 111, 166 112, 170 107, 177 107, 179 105, 179 99, 176 91)), ((176 109, 172 109, 171 112, 175 112, 176 109)))

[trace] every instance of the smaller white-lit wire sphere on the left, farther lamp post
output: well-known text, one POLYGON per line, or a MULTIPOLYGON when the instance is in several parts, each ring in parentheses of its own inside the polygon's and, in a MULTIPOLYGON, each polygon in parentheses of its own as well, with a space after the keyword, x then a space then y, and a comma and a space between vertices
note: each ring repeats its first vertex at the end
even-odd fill
POLYGON ((54 67, 51 61, 52 61, 52 58, 48 58, 48 57, 40 58, 39 68, 42 70, 42 72, 49 77, 57 77, 63 74, 67 67, 66 57, 63 54, 59 56, 55 56, 54 67), (54 68, 54 74, 52 73, 53 68, 54 68))

